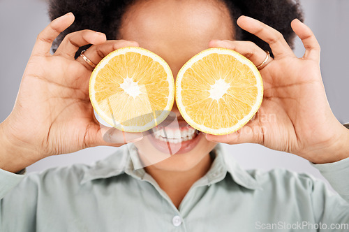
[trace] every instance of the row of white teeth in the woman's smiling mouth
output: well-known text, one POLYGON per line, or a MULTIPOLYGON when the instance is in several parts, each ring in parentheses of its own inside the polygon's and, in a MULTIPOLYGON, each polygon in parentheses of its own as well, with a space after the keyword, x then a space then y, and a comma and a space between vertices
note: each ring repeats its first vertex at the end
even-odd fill
POLYGON ((181 143, 187 140, 191 140, 195 137, 196 130, 188 128, 184 130, 180 129, 153 129, 154 137, 158 140, 170 143, 181 143))

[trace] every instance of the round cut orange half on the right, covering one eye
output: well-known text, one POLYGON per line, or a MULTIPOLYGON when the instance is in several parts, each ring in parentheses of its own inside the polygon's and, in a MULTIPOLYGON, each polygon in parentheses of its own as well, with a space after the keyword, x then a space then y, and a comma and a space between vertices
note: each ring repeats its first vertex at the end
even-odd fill
POLYGON ((176 79, 176 102, 193 128, 223 135, 246 124, 263 98, 262 77, 238 52, 210 48, 191 58, 176 79))

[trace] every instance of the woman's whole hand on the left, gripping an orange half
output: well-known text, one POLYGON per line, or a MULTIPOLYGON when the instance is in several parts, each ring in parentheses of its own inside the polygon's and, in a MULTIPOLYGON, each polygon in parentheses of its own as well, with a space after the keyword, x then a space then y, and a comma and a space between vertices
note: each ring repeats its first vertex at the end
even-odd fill
POLYGON ((91 30, 68 34, 50 54, 54 39, 74 22, 68 13, 53 20, 39 35, 24 71, 12 113, 0 124, 0 168, 20 171, 54 154, 98 145, 121 146, 142 138, 101 126, 89 101, 89 77, 93 68, 75 52, 87 44, 84 54, 98 64, 113 50, 138 46, 133 41, 106 41, 105 34, 91 30), (103 135, 108 131, 108 141, 103 135))

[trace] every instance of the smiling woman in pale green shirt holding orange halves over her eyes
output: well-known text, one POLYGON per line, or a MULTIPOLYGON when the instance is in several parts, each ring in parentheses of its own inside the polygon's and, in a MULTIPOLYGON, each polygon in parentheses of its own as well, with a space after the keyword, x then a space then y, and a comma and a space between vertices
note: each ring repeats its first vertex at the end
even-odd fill
MULTIPOLYGON (((312 231, 321 224, 328 227, 320 229, 329 229, 334 223, 349 223, 349 132, 327 103, 319 45, 306 25, 293 20, 302 17, 297 4, 287 0, 98 4, 51 2, 52 18, 72 11, 77 19, 73 24, 75 17, 68 13, 39 34, 15 108, 0 124, 3 231, 297 230, 294 225, 302 222, 313 226, 305 228, 312 231), (272 27, 239 17, 242 13, 272 27), (95 31, 81 31, 85 28, 95 31), (290 48, 292 31, 306 48, 300 59, 290 48), (94 118, 87 86, 93 64, 126 46, 160 55, 174 76, 201 50, 236 50, 256 66, 262 64, 262 106, 239 131, 228 136, 199 133, 190 149, 146 168, 134 169, 129 157, 142 156, 142 150, 131 146, 96 166, 19 175, 50 155, 124 144, 120 131, 101 127, 94 118), (265 122, 265 115, 276 115, 276 122, 265 122), (306 175, 246 172, 217 143, 260 143, 297 154, 314 163, 342 198, 306 175)), ((175 105, 172 111, 185 126, 175 105)), ((140 140, 142 134, 127 133, 127 138, 140 140)))

